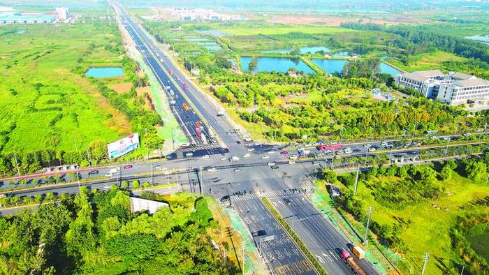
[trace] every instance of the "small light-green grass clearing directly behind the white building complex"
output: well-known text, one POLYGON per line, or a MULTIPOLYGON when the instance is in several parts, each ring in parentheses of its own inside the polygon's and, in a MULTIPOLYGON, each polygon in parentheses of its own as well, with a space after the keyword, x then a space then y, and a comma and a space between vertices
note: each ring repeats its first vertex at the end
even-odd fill
POLYGON ((465 57, 459 57, 458 55, 451 54, 449 52, 430 52, 426 54, 417 54, 411 56, 409 59, 409 64, 402 64, 397 59, 388 59, 391 64, 406 70, 408 72, 413 72, 415 70, 430 70, 441 68, 441 62, 443 61, 465 61, 465 57))

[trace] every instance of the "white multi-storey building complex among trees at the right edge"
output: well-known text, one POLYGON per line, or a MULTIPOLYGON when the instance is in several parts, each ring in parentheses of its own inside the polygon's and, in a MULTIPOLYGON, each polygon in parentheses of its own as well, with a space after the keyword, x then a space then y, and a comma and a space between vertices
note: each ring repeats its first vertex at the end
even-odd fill
POLYGON ((486 104, 489 101, 489 81, 474 75, 441 70, 422 70, 397 75, 395 82, 401 87, 420 91, 427 98, 450 105, 462 103, 486 104))

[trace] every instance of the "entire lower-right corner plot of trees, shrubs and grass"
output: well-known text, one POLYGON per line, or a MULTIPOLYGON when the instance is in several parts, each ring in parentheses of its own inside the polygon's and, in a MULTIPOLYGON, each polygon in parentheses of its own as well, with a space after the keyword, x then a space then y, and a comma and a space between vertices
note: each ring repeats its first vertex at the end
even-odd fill
POLYGON ((423 254, 430 253, 429 274, 460 274, 462 268, 484 274, 487 259, 469 240, 487 235, 488 165, 489 154, 484 154, 431 165, 374 167, 360 173, 356 195, 355 173, 323 170, 321 179, 340 186, 335 205, 357 234, 363 236, 367 209, 373 207, 371 237, 400 256, 395 262, 404 272, 421 271, 423 254))

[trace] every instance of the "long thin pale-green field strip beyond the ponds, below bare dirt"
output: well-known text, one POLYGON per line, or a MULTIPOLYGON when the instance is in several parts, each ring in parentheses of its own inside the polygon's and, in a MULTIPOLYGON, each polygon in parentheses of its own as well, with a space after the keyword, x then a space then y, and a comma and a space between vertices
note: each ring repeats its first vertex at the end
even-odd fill
POLYGON ((344 29, 339 27, 270 27, 270 28, 222 28, 219 31, 223 31, 226 34, 233 34, 235 36, 253 36, 263 34, 265 36, 272 36, 277 34, 290 34, 290 33, 302 33, 302 34, 342 34, 349 32, 358 32, 352 29, 344 29))

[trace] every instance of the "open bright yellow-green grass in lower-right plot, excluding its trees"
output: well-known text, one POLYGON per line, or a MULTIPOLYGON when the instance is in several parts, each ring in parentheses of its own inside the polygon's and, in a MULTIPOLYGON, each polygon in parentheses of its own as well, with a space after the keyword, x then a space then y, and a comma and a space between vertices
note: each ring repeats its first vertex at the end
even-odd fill
MULTIPOLYGON (((384 182, 396 180, 395 177, 378 179, 384 182)), ((372 181, 372 185, 375 185, 375 182, 377 181, 372 181)), ((424 253, 430 253, 430 261, 428 261, 425 274, 444 274, 440 267, 448 265, 451 259, 458 258, 458 255, 451 250, 450 228, 455 218, 462 214, 463 206, 489 195, 487 184, 482 181, 471 181, 456 172, 453 172, 452 179, 443 185, 446 193, 438 200, 420 202, 404 209, 384 207, 375 200, 372 189, 364 184, 358 185, 358 198, 363 200, 365 205, 374 208, 372 221, 377 221, 381 225, 404 223, 404 226, 407 226, 407 229, 400 235, 409 249, 403 255, 407 265, 412 265, 415 271, 421 270, 424 253), (439 209, 435 208, 433 204, 439 206, 439 209)))

